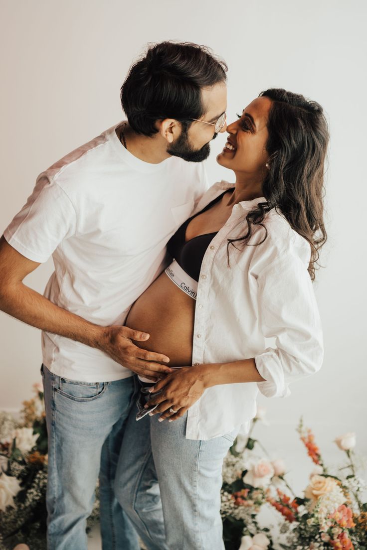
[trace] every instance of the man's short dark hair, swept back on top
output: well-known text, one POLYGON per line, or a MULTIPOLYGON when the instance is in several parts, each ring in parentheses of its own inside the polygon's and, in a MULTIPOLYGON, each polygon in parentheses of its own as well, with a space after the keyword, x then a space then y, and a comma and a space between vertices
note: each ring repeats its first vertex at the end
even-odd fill
POLYGON ((156 120, 174 118, 187 129, 205 114, 201 89, 225 82, 227 65, 210 48, 190 42, 150 45, 121 87, 122 108, 137 133, 157 133, 156 120))

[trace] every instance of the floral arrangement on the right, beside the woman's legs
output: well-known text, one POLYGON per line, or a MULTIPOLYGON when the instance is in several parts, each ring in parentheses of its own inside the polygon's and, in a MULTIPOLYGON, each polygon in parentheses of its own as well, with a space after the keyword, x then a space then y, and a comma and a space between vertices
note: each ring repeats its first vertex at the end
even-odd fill
POLYGON ((256 445, 267 455, 251 437, 255 423, 264 416, 265 409, 259 407, 250 433, 236 439, 224 460, 221 513, 226 550, 367 550, 366 485, 357 476, 355 433, 335 439, 347 456, 339 472, 347 474, 331 475, 314 434, 300 420, 297 431, 315 467, 304 496, 297 497, 286 481, 284 461, 255 454, 256 445), (266 507, 278 513, 276 540, 274 526, 260 526, 258 516, 266 507), (286 541, 281 541, 282 535, 286 541))

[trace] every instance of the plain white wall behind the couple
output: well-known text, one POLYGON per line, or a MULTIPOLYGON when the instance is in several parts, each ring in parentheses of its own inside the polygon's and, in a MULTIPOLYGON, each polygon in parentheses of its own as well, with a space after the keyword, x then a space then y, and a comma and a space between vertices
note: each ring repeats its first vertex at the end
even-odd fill
MULTIPOLYGON (((311 467, 294 430, 301 414, 326 461, 341 458, 332 439, 346 431, 357 432, 358 450, 367 453, 367 3, 2 0, 1 13, 0 233, 43 169, 123 118, 120 85, 149 41, 194 41, 224 57, 229 121, 271 86, 300 92, 324 106, 331 127, 329 239, 315 290, 325 362, 317 375, 293 384, 288 399, 259 399, 269 409, 271 426, 257 433, 267 448, 287 455, 292 471, 311 467)), ((207 161, 212 182, 233 179, 215 162, 223 142, 224 136, 213 142, 207 161)), ((52 271, 48 261, 26 283, 42 293, 52 271)), ((37 329, 0 313, 1 409, 18 409, 39 381, 40 339, 37 329)))

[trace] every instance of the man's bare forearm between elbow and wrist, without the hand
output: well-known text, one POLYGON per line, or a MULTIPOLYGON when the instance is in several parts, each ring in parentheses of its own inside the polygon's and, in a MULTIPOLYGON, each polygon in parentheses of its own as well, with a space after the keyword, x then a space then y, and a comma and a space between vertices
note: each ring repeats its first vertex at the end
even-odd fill
POLYGON ((99 348, 103 339, 103 327, 53 304, 21 282, 2 290, 0 309, 32 327, 59 334, 92 348, 99 348))

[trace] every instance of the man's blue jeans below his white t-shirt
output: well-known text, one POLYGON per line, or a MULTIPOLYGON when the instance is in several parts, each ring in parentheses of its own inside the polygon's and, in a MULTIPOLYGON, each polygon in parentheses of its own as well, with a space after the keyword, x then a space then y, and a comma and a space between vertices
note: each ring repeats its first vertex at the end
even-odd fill
POLYGON ((48 550, 86 550, 86 518, 98 475, 103 550, 139 550, 113 490, 136 377, 86 383, 53 375, 45 365, 41 372, 48 432, 48 550))

